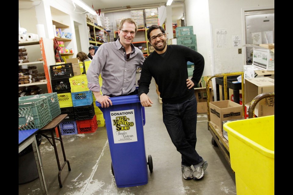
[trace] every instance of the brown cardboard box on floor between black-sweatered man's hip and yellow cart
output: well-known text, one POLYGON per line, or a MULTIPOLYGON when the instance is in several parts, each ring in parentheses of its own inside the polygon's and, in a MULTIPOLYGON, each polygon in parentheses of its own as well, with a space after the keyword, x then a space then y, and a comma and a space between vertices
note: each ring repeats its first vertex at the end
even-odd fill
MULTIPOLYGON (((207 89, 205 87, 194 88, 194 94, 197 101, 197 113, 207 113, 208 112, 208 104, 207 104, 207 89)), ((210 87, 210 95, 212 97, 212 87, 210 87)))

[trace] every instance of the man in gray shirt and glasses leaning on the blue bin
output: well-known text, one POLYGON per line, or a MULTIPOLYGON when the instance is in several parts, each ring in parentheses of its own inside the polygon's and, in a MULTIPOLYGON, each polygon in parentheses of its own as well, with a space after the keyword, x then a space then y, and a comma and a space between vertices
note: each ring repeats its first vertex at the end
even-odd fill
POLYGON ((144 61, 143 52, 132 44, 136 32, 133 19, 122 19, 118 40, 102 44, 92 59, 86 73, 88 87, 102 108, 112 105, 110 97, 136 94, 136 69, 144 61), (103 79, 102 87, 99 74, 103 79))

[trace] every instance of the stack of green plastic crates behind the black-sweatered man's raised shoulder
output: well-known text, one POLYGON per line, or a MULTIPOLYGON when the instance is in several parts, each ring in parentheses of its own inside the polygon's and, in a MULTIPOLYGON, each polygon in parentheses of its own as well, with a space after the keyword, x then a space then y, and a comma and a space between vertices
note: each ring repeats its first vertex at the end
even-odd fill
MULTIPOLYGON (((184 45, 197 51, 196 35, 193 34, 193 26, 177 27, 176 29, 177 45, 184 45)), ((194 67, 187 62, 188 76, 192 76, 194 67)))

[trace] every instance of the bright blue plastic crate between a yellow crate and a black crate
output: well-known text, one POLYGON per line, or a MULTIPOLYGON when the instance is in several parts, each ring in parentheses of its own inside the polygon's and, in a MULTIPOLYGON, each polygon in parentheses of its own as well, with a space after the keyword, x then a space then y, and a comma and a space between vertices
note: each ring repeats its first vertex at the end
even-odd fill
POLYGON ((71 93, 73 107, 92 105, 92 91, 81 91, 71 93))

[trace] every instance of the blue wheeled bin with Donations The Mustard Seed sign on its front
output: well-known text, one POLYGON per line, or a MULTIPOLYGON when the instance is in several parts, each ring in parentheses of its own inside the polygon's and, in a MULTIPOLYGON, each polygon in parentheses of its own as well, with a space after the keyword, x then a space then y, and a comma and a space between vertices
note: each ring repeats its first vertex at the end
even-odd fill
POLYGON ((144 107, 138 95, 110 98, 112 106, 102 108, 112 159, 112 173, 117 187, 141 186, 148 183, 147 165, 153 171, 151 155, 146 158, 143 126, 144 107), (148 161, 148 162, 147 162, 148 161))

